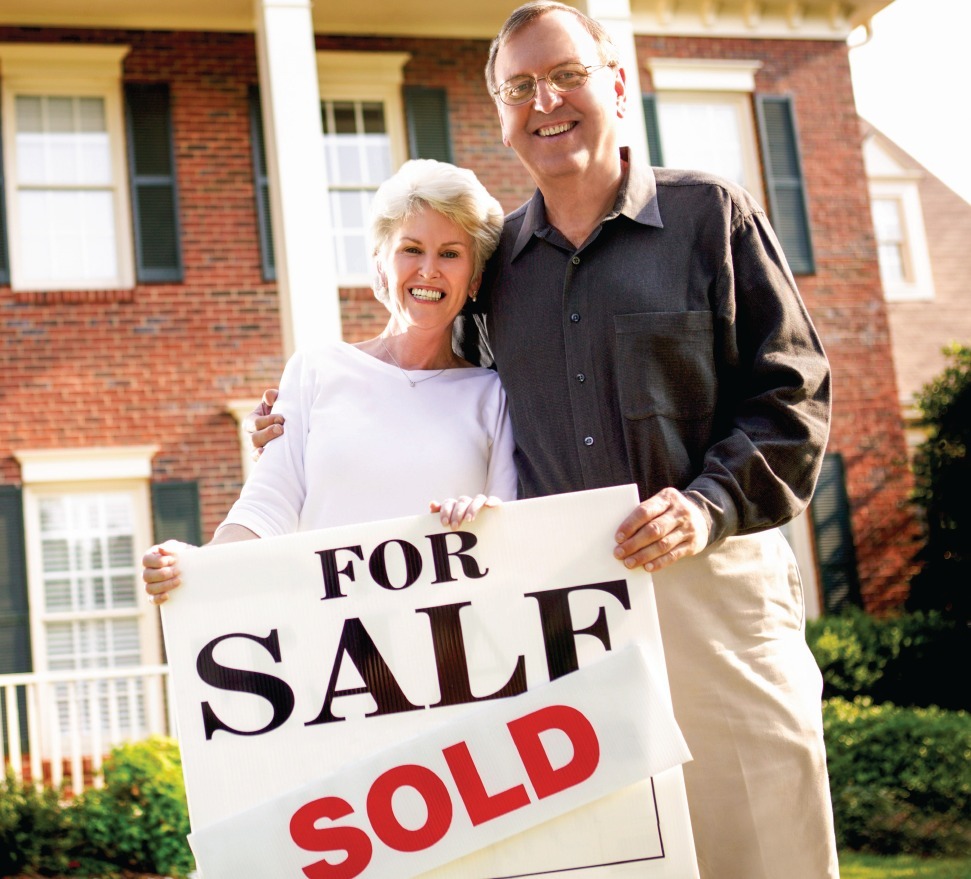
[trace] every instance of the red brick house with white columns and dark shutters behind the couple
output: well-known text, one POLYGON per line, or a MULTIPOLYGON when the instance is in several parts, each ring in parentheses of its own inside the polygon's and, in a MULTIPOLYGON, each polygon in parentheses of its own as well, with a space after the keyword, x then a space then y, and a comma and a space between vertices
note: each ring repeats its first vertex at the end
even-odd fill
MULTIPOLYGON (((369 193, 427 156, 507 209, 530 194, 482 78, 515 5, 5 0, 0 689, 60 674, 62 731, 116 691, 119 722, 150 726, 148 684, 63 680, 160 662, 142 550, 211 534, 247 466, 240 413, 288 353, 383 325, 369 193)), ((823 337, 830 455, 789 529, 814 612, 898 604, 915 531, 846 45, 889 0, 577 5, 644 96, 632 149, 755 192, 823 337)))

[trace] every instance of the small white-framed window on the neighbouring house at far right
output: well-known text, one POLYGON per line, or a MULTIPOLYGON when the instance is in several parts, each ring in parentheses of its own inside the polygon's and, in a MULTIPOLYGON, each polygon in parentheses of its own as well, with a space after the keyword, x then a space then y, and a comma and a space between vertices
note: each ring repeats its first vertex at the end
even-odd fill
POLYGON ((863 142, 863 160, 884 297, 894 302, 933 299, 934 278, 920 202, 923 172, 898 161, 874 134, 863 142))

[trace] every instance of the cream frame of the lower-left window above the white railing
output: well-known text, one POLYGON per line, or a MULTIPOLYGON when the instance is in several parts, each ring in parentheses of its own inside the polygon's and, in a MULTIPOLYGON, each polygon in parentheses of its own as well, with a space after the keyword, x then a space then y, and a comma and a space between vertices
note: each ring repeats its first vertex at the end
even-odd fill
MULTIPOLYGON (((150 480, 152 457, 158 446, 128 446, 98 449, 24 450, 14 453, 20 462, 23 481, 24 531, 27 551, 27 584, 30 603, 31 653, 35 672, 48 671, 48 622, 66 614, 49 614, 45 608, 44 570, 40 533, 40 503, 47 497, 65 494, 98 494, 123 492, 132 499, 134 545, 132 565, 140 567, 139 552, 152 543, 152 509, 150 480)), ((138 586, 136 584, 136 596, 138 586)), ((108 614, 115 613, 109 611, 108 614)), ((119 616, 137 617, 141 664, 153 665, 162 660, 158 612, 147 601, 136 600, 135 606, 117 612, 119 616)), ((105 616, 98 613, 96 615, 105 616)))

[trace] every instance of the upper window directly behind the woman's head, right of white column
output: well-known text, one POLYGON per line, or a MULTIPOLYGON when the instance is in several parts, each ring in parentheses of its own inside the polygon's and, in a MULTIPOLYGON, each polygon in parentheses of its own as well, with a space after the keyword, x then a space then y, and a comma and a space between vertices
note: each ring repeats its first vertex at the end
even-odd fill
POLYGON ((380 184, 408 155, 401 101, 403 53, 319 52, 324 154, 337 276, 371 283, 367 216, 380 184))

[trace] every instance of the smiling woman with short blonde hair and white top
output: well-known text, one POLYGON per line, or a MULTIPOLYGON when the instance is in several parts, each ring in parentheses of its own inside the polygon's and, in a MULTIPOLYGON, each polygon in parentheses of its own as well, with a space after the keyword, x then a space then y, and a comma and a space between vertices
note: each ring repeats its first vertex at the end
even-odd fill
MULTIPOLYGON (((494 372, 452 349, 452 324, 475 298, 499 241, 499 203, 475 175, 443 162, 406 162, 371 208, 374 291, 384 331, 295 354, 274 412, 272 443, 211 543, 415 515, 456 528, 485 505, 516 497, 512 429, 494 372)), ((179 585, 176 543, 152 547, 150 599, 179 585)))

